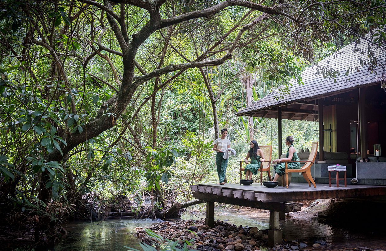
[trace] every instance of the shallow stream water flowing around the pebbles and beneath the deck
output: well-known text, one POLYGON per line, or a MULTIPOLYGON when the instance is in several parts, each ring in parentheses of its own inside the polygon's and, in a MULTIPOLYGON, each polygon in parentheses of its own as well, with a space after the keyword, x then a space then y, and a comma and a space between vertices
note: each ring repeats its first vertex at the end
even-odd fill
MULTIPOLYGON (((198 219, 198 217, 202 218, 205 215, 185 214, 182 219, 198 219)), ((268 214, 245 214, 245 212, 215 209, 215 219, 233 223, 236 226, 241 224, 256 226, 259 229, 269 228, 268 214)), ((134 236, 135 227, 147 227, 157 222, 162 221, 123 219, 69 223, 65 226, 68 235, 51 250, 127 250, 124 246, 141 250, 139 240, 134 236)), ((309 240, 309 246, 315 239, 325 239, 327 246, 315 250, 352 250, 359 247, 367 247, 372 250, 386 249, 386 231, 384 229, 374 230, 371 224, 368 229, 339 228, 320 224, 315 220, 287 218, 285 221, 280 221, 280 225, 284 239, 309 240)), ((312 250, 312 247, 303 250, 312 250)))

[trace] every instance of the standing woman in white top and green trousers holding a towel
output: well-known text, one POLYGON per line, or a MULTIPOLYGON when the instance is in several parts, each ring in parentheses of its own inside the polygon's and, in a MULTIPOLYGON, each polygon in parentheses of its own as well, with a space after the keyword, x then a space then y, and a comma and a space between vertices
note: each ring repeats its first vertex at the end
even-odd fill
POLYGON ((227 148, 230 148, 230 140, 225 138, 228 134, 227 129, 221 130, 221 137, 216 139, 213 145, 213 151, 216 151, 216 166, 217 166, 217 174, 218 181, 220 185, 225 184, 225 172, 227 172, 228 159, 224 159, 224 153, 227 148))

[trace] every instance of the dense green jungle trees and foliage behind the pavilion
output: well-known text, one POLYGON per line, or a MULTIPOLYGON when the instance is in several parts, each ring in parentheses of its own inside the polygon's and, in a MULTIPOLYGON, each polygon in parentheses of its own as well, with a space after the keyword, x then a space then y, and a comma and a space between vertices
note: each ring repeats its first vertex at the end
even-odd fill
MULTIPOLYGON (((385 40, 372 32, 386 24, 380 0, 0 5, 0 236, 36 244, 58 240, 68 220, 157 217, 190 201, 189 185, 218 182, 221 128, 238 183, 249 141, 276 158, 278 135, 276 120, 237 111, 303 84, 302 69, 359 37, 385 40)), ((310 147, 315 123, 283 120, 283 136, 310 147)))

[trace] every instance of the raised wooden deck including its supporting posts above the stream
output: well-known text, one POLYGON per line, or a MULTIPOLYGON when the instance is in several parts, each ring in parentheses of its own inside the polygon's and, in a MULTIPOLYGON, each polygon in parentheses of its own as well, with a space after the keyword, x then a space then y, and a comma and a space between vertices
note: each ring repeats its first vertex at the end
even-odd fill
POLYGON ((267 188, 260 184, 249 186, 239 184, 195 184, 190 186, 193 197, 207 202, 205 224, 215 226, 214 202, 269 210, 268 246, 282 242, 283 233, 279 227, 279 217, 286 212, 301 210, 302 204, 293 201, 337 198, 371 198, 386 195, 386 186, 347 185, 336 187, 317 184, 317 188, 306 183, 291 183, 289 188, 267 188))

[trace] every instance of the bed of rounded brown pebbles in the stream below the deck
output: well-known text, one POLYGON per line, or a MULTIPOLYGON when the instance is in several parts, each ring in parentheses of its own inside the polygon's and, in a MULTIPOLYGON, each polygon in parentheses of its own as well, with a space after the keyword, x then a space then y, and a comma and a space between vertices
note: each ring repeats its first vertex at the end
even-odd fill
MULTIPOLYGON (((210 228, 203 220, 189 221, 165 221, 155 224, 149 229, 164 239, 179 241, 183 245, 185 240, 192 244, 192 249, 205 251, 258 251, 264 250, 305 250, 313 249, 313 243, 306 241, 287 241, 274 248, 267 248, 268 229, 257 229, 257 227, 243 227, 216 221, 215 227, 210 228)), ((154 238, 147 236, 142 227, 137 227, 136 235, 143 243, 151 244, 154 238)))

